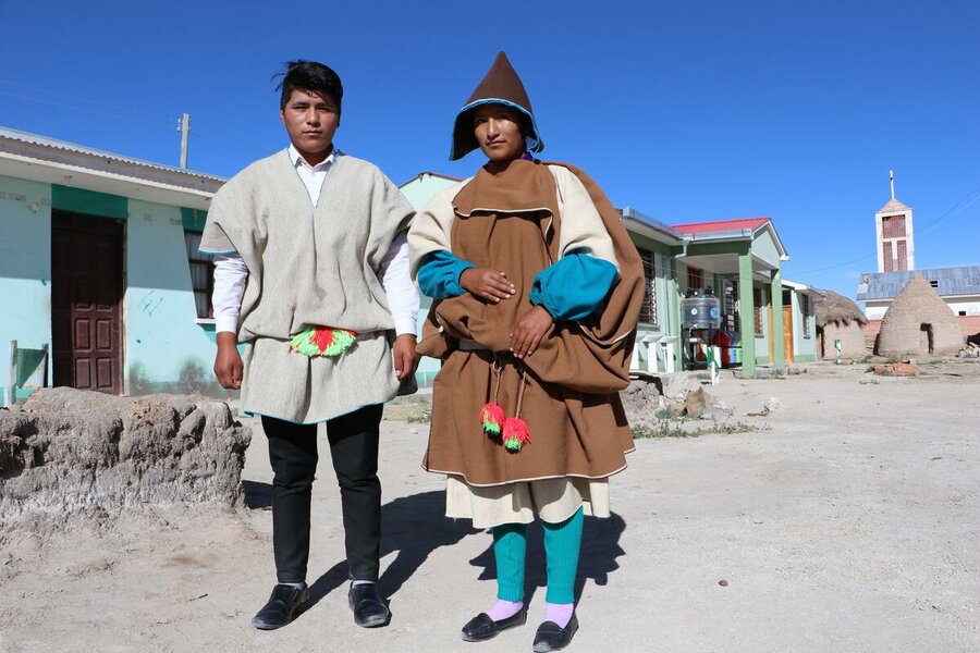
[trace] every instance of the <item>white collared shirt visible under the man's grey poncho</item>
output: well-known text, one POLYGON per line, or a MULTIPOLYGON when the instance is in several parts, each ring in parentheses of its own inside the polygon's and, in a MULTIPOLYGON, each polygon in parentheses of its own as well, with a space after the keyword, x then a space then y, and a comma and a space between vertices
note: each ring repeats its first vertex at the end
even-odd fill
MULTIPOLYGON (((314 206, 320 200, 320 189, 330 168, 336 161, 336 148, 320 163, 310 165, 306 159, 290 145, 290 159, 296 167, 296 173, 309 193, 314 206)), ((245 294, 245 282, 248 268, 237 254, 215 256, 215 292, 211 304, 215 307, 215 331, 237 332, 238 312, 242 308, 242 296, 245 294)), ((418 288, 408 274, 408 237, 405 232, 395 236, 388 254, 381 259, 378 279, 388 295, 388 307, 394 319, 395 334, 416 335, 415 323, 418 317, 418 288)))

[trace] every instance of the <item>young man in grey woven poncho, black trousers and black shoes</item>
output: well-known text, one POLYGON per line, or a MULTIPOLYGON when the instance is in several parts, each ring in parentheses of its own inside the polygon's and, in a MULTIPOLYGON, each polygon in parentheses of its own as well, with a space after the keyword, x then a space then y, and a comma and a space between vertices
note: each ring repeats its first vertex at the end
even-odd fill
POLYGON ((218 192, 200 245, 218 255, 215 373, 222 386, 242 390, 242 411, 261 416, 274 475, 278 583, 252 625, 285 626, 308 602, 317 423, 326 422, 348 602, 357 625, 384 626, 391 613, 377 590, 378 431, 382 404, 418 365, 418 293, 406 244, 412 207, 375 165, 333 147, 343 98, 336 73, 290 62, 280 88, 290 147, 218 192), (240 342, 247 344, 244 362, 240 342))

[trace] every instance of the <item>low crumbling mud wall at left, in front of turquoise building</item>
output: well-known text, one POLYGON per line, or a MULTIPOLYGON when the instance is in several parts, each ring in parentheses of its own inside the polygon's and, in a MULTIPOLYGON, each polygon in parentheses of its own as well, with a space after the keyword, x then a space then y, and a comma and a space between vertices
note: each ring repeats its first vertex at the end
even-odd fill
POLYGON ((46 389, 0 410, 0 520, 242 501, 249 429, 205 397, 46 389))

